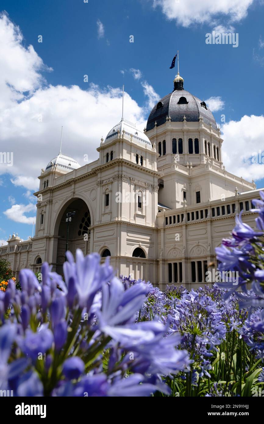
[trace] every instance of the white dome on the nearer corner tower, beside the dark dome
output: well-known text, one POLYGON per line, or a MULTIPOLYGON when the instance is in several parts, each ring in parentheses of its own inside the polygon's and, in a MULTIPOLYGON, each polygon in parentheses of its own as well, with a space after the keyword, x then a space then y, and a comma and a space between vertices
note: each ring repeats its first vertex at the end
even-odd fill
POLYGON ((124 135, 127 136, 125 138, 130 140, 130 135, 133 134, 133 142, 136 142, 138 145, 144 148, 145 145, 147 145, 148 148, 152 149, 152 144, 146 134, 141 130, 137 129, 136 125, 127 120, 121 120, 117 125, 115 125, 111 129, 111 131, 108 132, 104 142, 105 145, 108 142, 111 142, 113 139, 118 138, 118 129, 120 131, 120 137, 122 137, 122 131, 125 130, 124 135))

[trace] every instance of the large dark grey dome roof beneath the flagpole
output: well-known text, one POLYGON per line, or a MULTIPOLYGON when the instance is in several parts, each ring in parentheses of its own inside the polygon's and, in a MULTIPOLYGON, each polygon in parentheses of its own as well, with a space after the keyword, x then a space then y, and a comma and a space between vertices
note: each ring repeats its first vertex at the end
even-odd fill
POLYGON ((183 122, 183 117, 188 122, 199 122, 199 116, 207 125, 217 130, 217 124, 206 103, 193 96, 184 89, 175 89, 172 93, 162 98, 150 112, 147 120, 147 131, 166 122, 166 117, 171 117, 172 122, 183 122))

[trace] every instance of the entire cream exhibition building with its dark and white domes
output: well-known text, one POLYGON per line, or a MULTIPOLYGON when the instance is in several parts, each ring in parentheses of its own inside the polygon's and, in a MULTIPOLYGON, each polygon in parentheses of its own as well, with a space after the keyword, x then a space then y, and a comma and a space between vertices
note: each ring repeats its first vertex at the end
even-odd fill
POLYGON ((22 268, 40 271, 44 261, 62 273, 66 217, 75 212, 73 254, 81 248, 111 255, 117 275, 150 280, 161 290, 171 283, 199 287, 240 210, 255 228, 251 200, 260 197, 254 182, 225 170, 222 142, 205 103, 177 75, 144 132, 122 119, 101 139, 96 161, 80 166, 60 152, 42 169, 35 236, 21 241, 13 234, 0 257, 17 278, 22 268))

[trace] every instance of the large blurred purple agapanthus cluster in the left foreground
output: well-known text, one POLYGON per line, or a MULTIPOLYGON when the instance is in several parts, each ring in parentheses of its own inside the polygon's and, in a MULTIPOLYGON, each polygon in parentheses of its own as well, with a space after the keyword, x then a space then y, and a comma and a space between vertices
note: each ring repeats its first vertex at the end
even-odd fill
MULTIPOLYGON (((42 282, 20 272, 0 292, 0 389, 14 396, 149 396, 169 394, 167 375, 188 368, 179 335, 157 319, 135 323, 151 287, 125 287, 100 255, 76 261, 64 278, 42 265, 42 282), (8 311, 8 314, 7 314, 8 311)), ((156 291, 155 291, 156 295, 156 291)))

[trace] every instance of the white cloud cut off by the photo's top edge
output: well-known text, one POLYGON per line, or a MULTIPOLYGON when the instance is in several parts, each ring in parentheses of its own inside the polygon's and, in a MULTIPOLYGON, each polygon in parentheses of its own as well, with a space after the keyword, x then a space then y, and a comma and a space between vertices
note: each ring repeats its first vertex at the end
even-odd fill
POLYGON ((175 20, 178 25, 188 27, 192 24, 220 25, 221 19, 225 25, 239 22, 247 16, 248 8, 254 0, 153 0, 153 6, 160 6, 169 20, 175 20))

